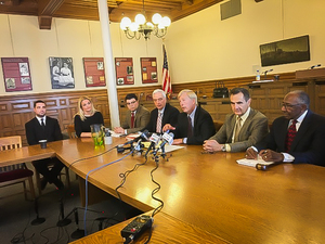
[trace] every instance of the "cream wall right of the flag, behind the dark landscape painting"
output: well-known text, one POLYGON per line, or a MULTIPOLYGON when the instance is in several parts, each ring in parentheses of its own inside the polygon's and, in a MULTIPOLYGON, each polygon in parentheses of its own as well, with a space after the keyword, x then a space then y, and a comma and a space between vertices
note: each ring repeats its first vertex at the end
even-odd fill
POLYGON ((173 84, 255 75, 259 46, 310 35, 311 61, 262 67, 271 74, 325 65, 324 0, 242 0, 242 14, 221 21, 212 5, 169 28, 166 46, 173 84))

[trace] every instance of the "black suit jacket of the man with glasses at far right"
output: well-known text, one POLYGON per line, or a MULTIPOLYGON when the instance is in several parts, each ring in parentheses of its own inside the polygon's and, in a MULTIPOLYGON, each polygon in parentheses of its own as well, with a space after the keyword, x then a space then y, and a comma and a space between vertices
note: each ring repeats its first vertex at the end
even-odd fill
MULTIPOLYGON (((276 118, 271 132, 256 147, 285 152, 285 141, 289 119, 276 118)), ((288 154, 295 157, 294 163, 307 163, 325 166, 325 117, 308 111, 292 141, 288 154)))

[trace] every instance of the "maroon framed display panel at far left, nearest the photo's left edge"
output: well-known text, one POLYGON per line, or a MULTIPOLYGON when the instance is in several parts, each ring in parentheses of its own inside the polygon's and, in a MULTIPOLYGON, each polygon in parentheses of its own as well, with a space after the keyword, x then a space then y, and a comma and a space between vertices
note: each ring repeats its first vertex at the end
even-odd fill
POLYGON ((1 63, 6 92, 32 90, 28 57, 1 57, 1 63))

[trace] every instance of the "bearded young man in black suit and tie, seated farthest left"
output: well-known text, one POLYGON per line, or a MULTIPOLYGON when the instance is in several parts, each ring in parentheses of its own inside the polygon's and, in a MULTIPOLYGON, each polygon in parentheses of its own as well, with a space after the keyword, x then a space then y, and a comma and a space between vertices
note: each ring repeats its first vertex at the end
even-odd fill
MULTIPOLYGON (((36 116, 25 124, 29 145, 39 144, 40 140, 51 142, 63 139, 57 119, 46 116, 47 105, 43 101, 38 100, 34 103, 34 112, 36 116)), ((41 180, 42 190, 48 182, 54 183, 60 190, 64 188, 64 184, 57 178, 64 165, 56 157, 34 160, 32 165, 43 176, 41 180), (49 164, 54 165, 51 170, 49 170, 49 164)))

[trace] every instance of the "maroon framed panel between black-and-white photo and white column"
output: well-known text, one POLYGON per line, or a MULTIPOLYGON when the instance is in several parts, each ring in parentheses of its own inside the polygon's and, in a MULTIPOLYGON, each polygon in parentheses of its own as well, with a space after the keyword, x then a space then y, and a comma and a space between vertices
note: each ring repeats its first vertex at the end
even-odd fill
POLYGON ((103 57, 83 57, 86 87, 105 87, 105 68, 103 57))

